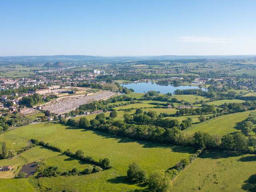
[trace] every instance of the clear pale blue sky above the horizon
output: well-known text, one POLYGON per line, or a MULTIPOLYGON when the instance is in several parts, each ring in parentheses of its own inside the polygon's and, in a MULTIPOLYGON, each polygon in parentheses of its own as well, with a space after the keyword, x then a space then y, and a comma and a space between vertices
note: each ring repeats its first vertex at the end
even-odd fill
POLYGON ((255 0, 1 0, 0 56, 255 55, 255 0))

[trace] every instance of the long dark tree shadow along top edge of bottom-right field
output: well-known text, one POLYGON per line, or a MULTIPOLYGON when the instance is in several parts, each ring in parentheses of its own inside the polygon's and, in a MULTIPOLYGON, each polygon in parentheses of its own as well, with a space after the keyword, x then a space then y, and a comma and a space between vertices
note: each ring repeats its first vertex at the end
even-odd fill
POLYGON ((212 150, 209 152, 204 152, 200 155, 200 158, 212 158, 212 159, 219 159, 219 158, 229 158, 229 157, 238 157, 240 153, 234 152, 227 152, 224 150, 212 150))

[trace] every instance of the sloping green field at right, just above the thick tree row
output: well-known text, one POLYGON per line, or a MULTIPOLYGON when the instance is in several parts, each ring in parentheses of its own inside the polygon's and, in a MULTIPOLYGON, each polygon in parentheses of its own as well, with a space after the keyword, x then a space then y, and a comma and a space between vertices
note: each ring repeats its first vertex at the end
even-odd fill
POLYGON ((239 132, 240 124, 252 111, 233 113, 213 118, 184 130, 187 134, 193 134, 198 131, 209 134, 225 135, 228 133, 239 132))

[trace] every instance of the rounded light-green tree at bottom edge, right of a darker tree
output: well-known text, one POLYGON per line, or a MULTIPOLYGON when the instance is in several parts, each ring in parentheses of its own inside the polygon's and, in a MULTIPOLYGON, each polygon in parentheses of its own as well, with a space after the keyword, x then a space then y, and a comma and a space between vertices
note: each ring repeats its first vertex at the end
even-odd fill
POLYGON ((167 192, 171 186, 171 179, 164 170, 152 171, 148 179, 150 192, 167 192))

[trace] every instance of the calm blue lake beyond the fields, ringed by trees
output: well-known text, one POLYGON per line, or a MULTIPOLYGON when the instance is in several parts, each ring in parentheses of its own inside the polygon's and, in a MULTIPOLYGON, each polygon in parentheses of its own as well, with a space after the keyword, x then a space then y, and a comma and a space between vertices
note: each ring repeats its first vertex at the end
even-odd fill
MULTIPOLYGON (((189 86, 189 85, 179 85, 179 84, 156 84, 152 82, 141 82, 141 83, 129 83, 129 84, 120 84, 121 86, 127 87, 128 89, 134 89, 136 93, 145 93, 148 91, 160 91, 160 93, 173 93, 175 90, 180 89, 198 89, 198 86, 189 86)), ((203 91, 207 91, 206 88, 201 88, 203 91)))

